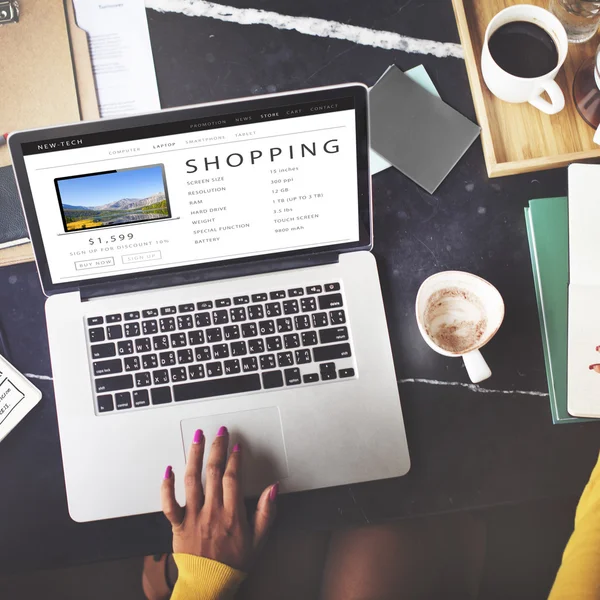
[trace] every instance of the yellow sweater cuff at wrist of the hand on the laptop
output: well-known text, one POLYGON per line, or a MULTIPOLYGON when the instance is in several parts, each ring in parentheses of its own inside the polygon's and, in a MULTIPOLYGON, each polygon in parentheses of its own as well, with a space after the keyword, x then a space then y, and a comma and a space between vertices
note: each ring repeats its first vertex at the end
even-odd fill
POLYGON ((246 578, 242 571, 191 554, 174 554, 179 570, 171 600, 230 600, 246 578))

